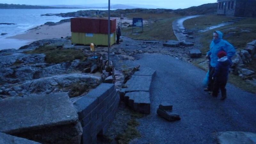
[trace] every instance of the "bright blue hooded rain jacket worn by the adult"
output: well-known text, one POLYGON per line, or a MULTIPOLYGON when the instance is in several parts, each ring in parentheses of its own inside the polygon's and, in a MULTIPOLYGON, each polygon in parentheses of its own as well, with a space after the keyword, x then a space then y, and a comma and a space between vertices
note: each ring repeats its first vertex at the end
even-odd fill
POLYGON ((222 33, 220 31, 216 31, 218 34, 218 39, 217 40, 212 40, 210 44, 210 51, 207 52, 207 54, 211 58, 210 65, 212 67, 216 67, 217 62, 218 62, 218 57, 217 54, 220 51, 225 51, 227 53, 228 59, 231 59, 235 54, 235 48, 231 44, 229 44, 227 41, 222 39, 222 33))

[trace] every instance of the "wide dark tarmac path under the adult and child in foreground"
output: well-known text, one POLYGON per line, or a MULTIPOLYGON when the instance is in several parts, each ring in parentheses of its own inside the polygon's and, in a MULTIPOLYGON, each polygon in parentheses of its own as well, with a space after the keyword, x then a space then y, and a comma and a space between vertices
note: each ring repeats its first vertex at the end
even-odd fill
POLYGON ((206 72, 170 56, 141 54, 135 61, 141 67, 156 69, 151 89, 151 112, 138 119, 140 139, 130 143, 211 144, 214 132, 256 132, 256 95, 228 84, 226 100, 213 98, 203 91, 206 72), (173 104, 173 112, 181 120, 167 122, 157 116, 162 101, 173 104))

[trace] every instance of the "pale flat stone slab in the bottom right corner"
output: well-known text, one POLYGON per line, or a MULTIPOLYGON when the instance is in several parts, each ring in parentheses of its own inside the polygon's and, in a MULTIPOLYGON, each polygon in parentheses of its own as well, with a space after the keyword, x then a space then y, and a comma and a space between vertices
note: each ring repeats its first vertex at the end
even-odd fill
POLYGON ((219 144, 255 144, 256 133, 252 132, 219 132, 217 136, 219 144))

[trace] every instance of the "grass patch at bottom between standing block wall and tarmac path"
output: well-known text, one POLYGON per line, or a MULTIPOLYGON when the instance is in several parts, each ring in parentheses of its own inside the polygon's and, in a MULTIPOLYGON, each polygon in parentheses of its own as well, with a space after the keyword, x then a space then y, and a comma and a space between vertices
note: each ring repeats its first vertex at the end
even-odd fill
POLYGON ((115 138, 118 144, 128 144, 132 139, 140 137, 140 133, 136 129, 139 125, 136 118, 141 118, 143 116, 145 115, 134 111, 132 112, 131 119, 127 122, 127 128, 124 130, 124 133, 118 134, 115 138))

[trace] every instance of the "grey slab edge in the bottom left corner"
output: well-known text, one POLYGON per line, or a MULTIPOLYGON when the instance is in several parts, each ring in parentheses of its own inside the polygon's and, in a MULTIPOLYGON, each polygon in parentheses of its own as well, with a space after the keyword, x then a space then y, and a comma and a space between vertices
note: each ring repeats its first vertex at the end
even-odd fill
POLYGON ((1 144, 40 144, 39 142, 15 137, 2 132, 0 132, 0 143, 1 144))

